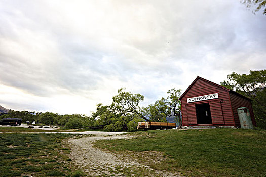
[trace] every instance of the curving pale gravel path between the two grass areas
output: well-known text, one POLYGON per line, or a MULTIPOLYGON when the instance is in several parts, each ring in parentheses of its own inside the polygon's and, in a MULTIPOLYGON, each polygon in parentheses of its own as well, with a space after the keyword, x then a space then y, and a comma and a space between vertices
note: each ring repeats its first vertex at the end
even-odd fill
POLYGON ((89 176, 180 176, 167 171, 157 171, 122 154, 105 152, 93 146, 96 140, 125 139, 128 135, 100 132, 92 137, 68 139, 70 158, 89 176))

